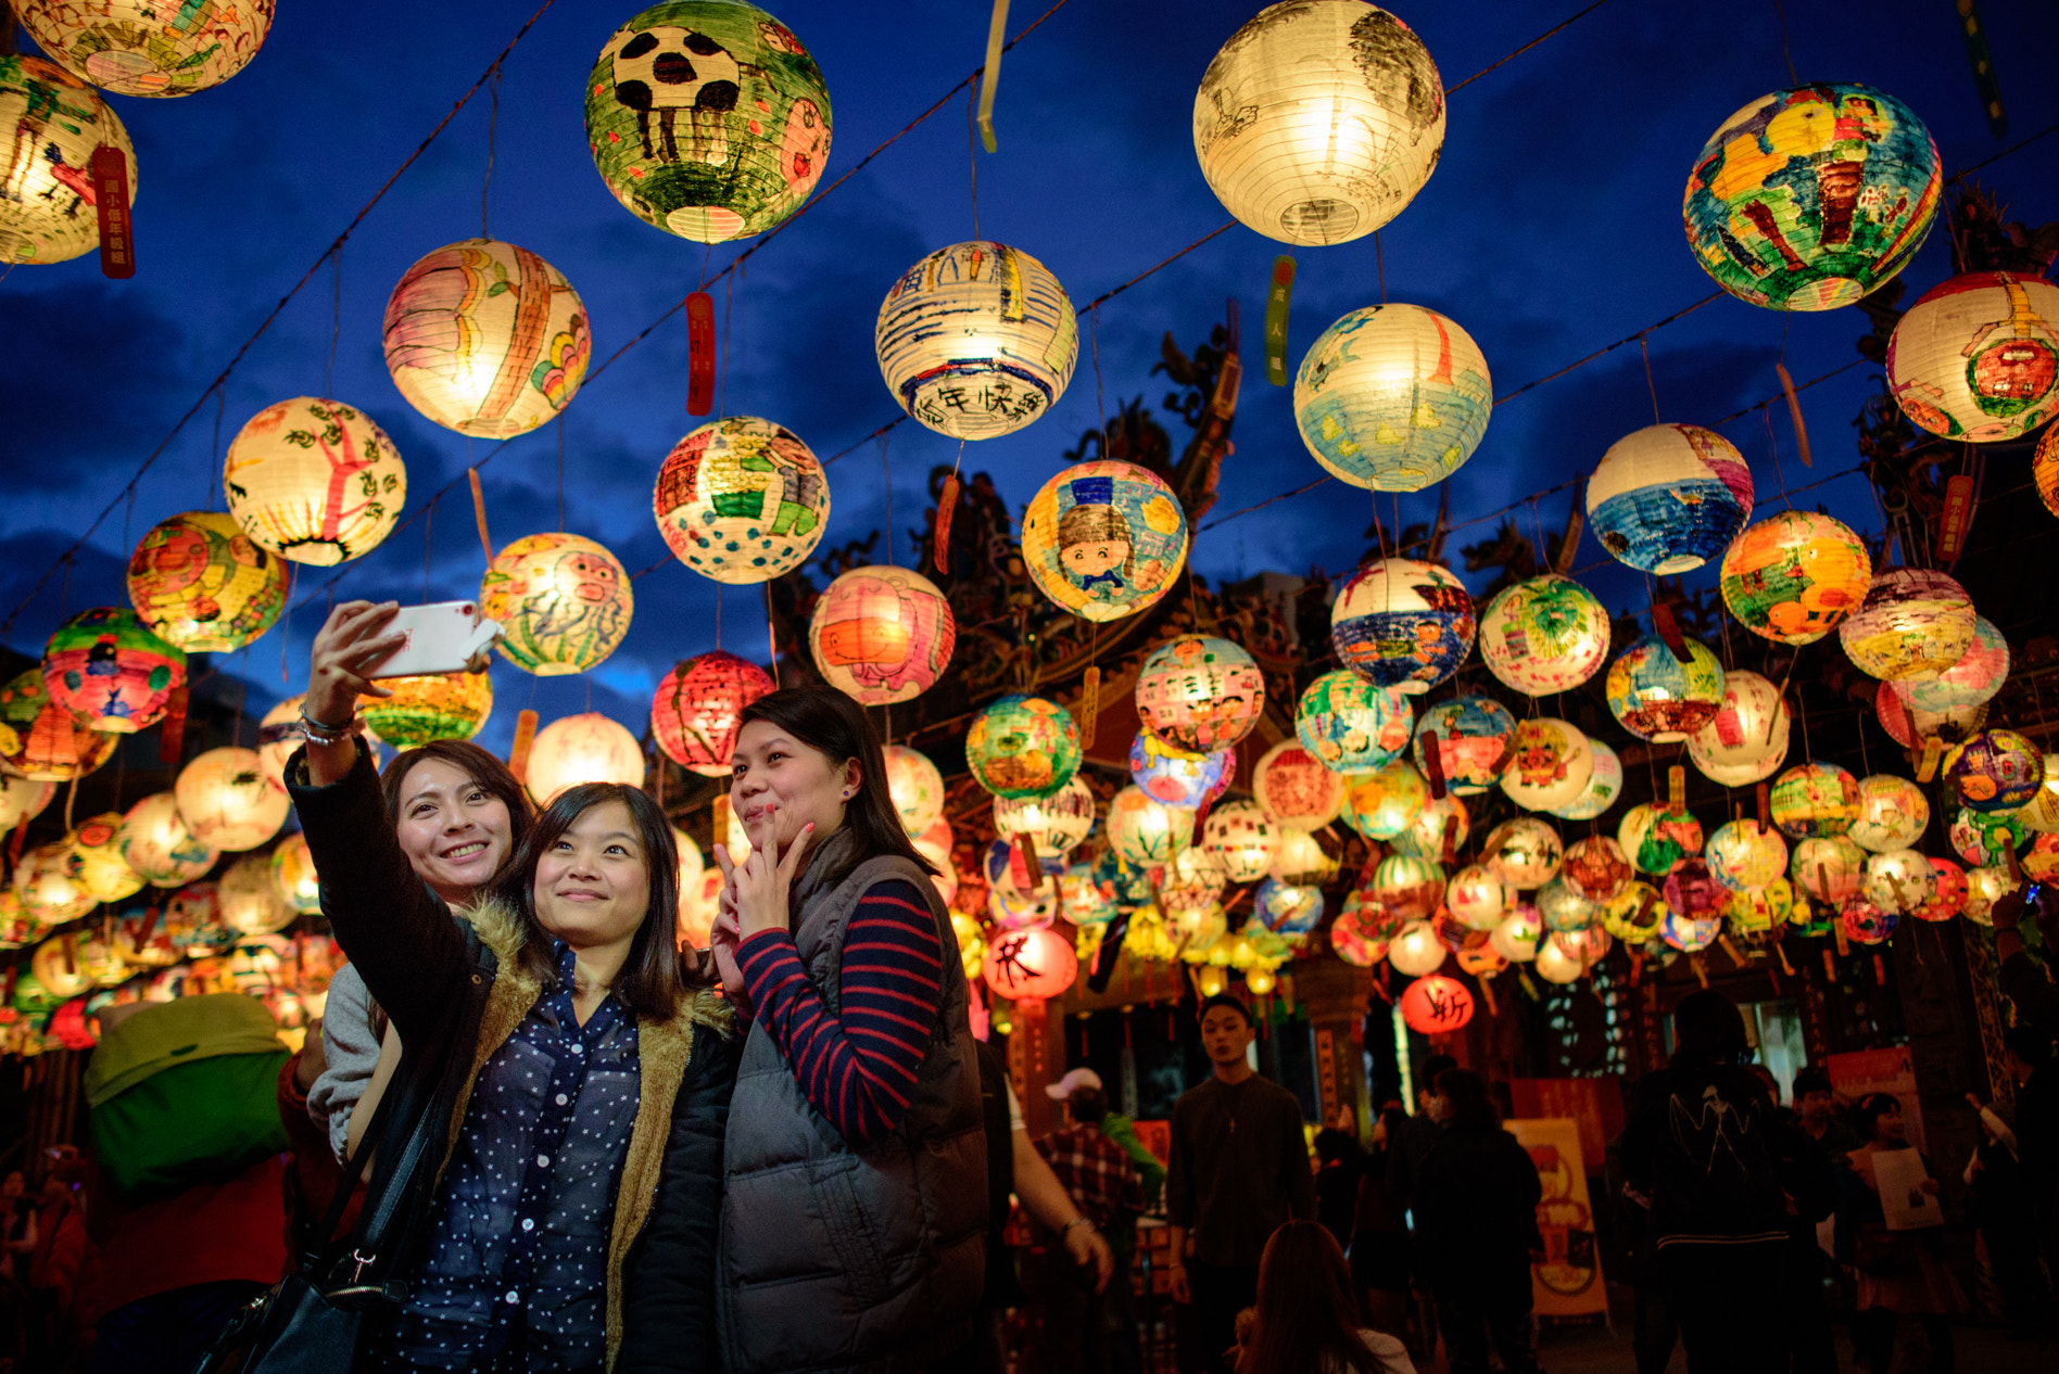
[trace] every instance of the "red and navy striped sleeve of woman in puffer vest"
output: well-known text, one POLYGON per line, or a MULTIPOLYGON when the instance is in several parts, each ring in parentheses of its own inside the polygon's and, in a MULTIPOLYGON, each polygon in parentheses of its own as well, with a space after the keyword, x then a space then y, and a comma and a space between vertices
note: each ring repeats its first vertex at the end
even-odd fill
POLYGON ((842 1016, 807 981, 793 936, 762 930, 737 948, 758 1020, 787 1051, 809 1105, 852 1146, 908 1115, 914 1076, 937 1030, 943 946, 910 882, 875 882, 844 928, 842 1016))

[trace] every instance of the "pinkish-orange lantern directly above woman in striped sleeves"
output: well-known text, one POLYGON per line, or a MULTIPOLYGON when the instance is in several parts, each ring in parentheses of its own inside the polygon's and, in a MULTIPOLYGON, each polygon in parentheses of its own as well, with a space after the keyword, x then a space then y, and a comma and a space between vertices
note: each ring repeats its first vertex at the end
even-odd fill
POLYGON ((912 701, 943 677, 957 646, 951 603, 906 568, 852 568, 822 592, 807 652, 824 681, 865 706, 912 701))

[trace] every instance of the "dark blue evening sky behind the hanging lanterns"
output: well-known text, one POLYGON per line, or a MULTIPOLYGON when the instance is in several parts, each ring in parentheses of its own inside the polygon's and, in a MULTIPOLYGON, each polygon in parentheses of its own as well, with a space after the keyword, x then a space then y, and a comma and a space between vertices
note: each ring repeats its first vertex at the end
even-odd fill
MULTIPOLYGON (((531 4, 443 0, 334 6, 288 0, 259 58, 229 84, 181 101, 113 97, 138 154, 132 282, 105 282, 97 259, 16 267, 0 284, 0 321, 14 360, 0 372, 0 615, 121 490, 136 465, 229 362, 272 304, 301 278, 422 136, 451 109, 531 4)), ((595 360, 719 269, 737 245, 712 255, 644 226, 607 195, 587 156, 581 88, 593 58, 634 4, 558 0, 515 49, 500 86, 490 228, 560 267, 583 294, 595 360)), ((978 62, 986 14, 966 0, 770 6, 813 51, 834 103, 828 185, 906 125, 978 62)), ((986 237, 1040 257, 1075 302, 1091 300, 1202 237, 1227 214, 1194 165, 1190 115, 1209 58, 1260 6, 1192 0, 1071 0, 1003 64, 999 156, 980 156, 978 214, 986 237)), ((1577 0, 1402 6, 1429 43, 1447 86, 1550 29, 1577 0)), ((2059 6, 1985 0, 2010 136, 1983 119, 1948 0, 1787 0, 1793 68, 1804 80, 1863 80, 1909 103, 1931 128, 1946 171, 1977 162, 2016 138, 2059 121, 2059 84, 2045 74, 2059 51, 2059 6)), ((1017 4, 1011 31, 1040 6, 1017 4)), ((27 45, 27 41, 25 41, 27 45)), ((1674 6, 1612 0, 1534 51, 1466 86, 1450 105, 1443 160, 1415 204, 1382 232, 1392 300, 1435 306, 1460 321, 1487 354, 1505 395, 1604 344, 1643 329, 1711 290, 1688 257, 1680 193, 1703 140, 1734 109, 1787 86, 1787 58, 1771 0, 1674 6)), ((364 220, 342 253, 342 311, 329 391, 371 411, 410 471, 410 512, 484 457, 416 415, 387 378, 379 352, 385 296, 416 257, 480 232, 490 99, 482 93, 364 220)), ((2059 220, 2059 136, 1981 173, 2010 218, 2059 220)), ((873 362, 871 329, 894 278, 933 247, 972 237, 966 97, 910 132, 871 167, 811 204, 807 216, 735 280, 725 403, 801 434, 828 457, 898 411, 873 362)), ((749 241, 745 241, 749 243, 749 241)), ((1244 344, 1258 354, 1266 272, 1281 245, 1231 228, 1108 304, 1097 321, 1100 389, 1118 399, 1163 399, 1147 376, 1159 335, 1200 341, 1223 302, 1244 302, 1244 344)), ((1375 245, 1295 251, 1291 358, 1332 319, 1380 298, 1375 245)), ((1948 272, 1942 234, 1907 269, 1917 292, 1948 272)), ((717 315, 725 309, 717 288, 717 315)), ((226 387, 220 442, 270 401, 321 393, 331 325, 327 267, 257 341, 226 387)), ((1785 348, 1798 381, 1851 362, 1868 331, 1857 311, 1779 315, 1730 298, 1651 337, 1651 368, 1666 420, 1711 422, 1777 389, 1785 348)), ((1021 434, 976 444, 968 471, 990 471, 1017 506, 1060 467, 1081 430, 1097 424, 1091 333, 1083 321, 1081 370, 1050 415, 1021 434)), ((1289 391, 1246 376, 1235 457, 1223 469, 1215 514, 1250 506, 1320 475, 1301 446, 1289 391)), ((1725 434, 1742 446, 1760 508, 1789 487, 1851 467, 1849 422, 1872 391, 1872 368, 1853 368, 1804 397, 1816 469, 1791 453, 1785 407, 1773 434, 1758 415, 1725 434)), ((634 572, 665 555, 651 520, 651 481, 671 444, 692 428, 686 399, 686 323, 673 317, 570 405, 566 527, 601 539, 634 572)), ((68 578, 51 578, 23 609, 6 642, 41 650, 70 609, 124 605, 128 545, 175 510, 220 506, 216 407, 175 440, 140 483, 134 514, 117 508, 68 578)), ((1592 469, 1602 450, 1651 422, 1637 348, 1497 409, 1472 461, 1452 479, 1456 518, 1485 514, 1592 469)), ((1184 430, 1176 426, 1176 442, 1184 430)), ((894 516, 920 525, 927 473, 949 463, 955 440, 906 424, 887 461, 894 516)), ((484 471, 496 543, 556 527, 556 428, 496 453, 484 471)), ((838 463, 826 545, 863 537, 883 520, 885 479, 875 448, 838 463)), ((352 564, 338 594, 469 596, 482 572, 469 502, 453 494, 424 522, 352 564)), ((1878 529, 1857 477, 1806 498, 1859 529, 1878 529)), ((1437 490, 1402 498, 1402 520, 1427 520, 1437 490)), ((1363 549, 1371 498, 1328 483, 1307 496, 1209 531, 1194 545, 1207 578, 1266 568, 1349 568, 1363 549)), ((1392 510, 1392 498, 1382 498, 1392 510)), ((1544 529, 1565 522, 1567 496, 1540 502, 1544 529)), ((1458 545, 1491 537, 1462 531, 1458 545)), ((900 541, 906 549, 906 541, 900 541)), ((906 553, 904 553, 906 557, 906 553)), ((1587 580, 1612 609, 1643 601, 1643 582, 1608 564, 1590 539, 1579 562, 1606 564, 1587 580)), ((305 594, 327 574, 303 570, 305 594)), ((1474 582, 1482 582, 1474 578, 1474 582)), ((1478 586, 1474 588, 1478 590, 1478 586)), ((725 644, 762 654, 762 599, 727 588, 725 644)), ((644 724, 649 693, 673 660, 714 644, 712 582, 669 564, 636 584, 636 621, 624 646, 593 673, 591 697, 630 728, 644 724)), ((319 603, 290 623, 286 666, 305 681, 319 603)), ((280 631, 229 668, 261 695, 280 693, 280 631)), ((583 710, 589 685, 535 683, 494 666, 500 710, 486 740, 507 745, 515 710, 546 720, 583 710)), ((255 697, 253 697, 255 701, 255 697)))

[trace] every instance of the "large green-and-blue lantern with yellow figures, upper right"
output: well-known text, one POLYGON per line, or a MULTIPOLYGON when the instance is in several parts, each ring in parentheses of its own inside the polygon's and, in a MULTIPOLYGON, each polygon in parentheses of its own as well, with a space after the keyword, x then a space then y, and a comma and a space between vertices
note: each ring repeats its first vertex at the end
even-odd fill
POLYGON ((1818 82, 1725 119, 1695 158, 1680 218, 1695 261, 1738 300, 1835 311, 1915 257, 1942 181, 1915 111, 1818 82))

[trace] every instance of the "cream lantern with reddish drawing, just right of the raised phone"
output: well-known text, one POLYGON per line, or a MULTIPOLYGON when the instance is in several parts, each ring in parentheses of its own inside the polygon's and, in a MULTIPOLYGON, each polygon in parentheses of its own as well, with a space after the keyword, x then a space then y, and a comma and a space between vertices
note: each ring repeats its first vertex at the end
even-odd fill
POLYGON ((500 656, 537 677, 599 666, 634 611, 628 570, 583 535, 517 539, 480 582, 480 613, 500 621, 500 656))

